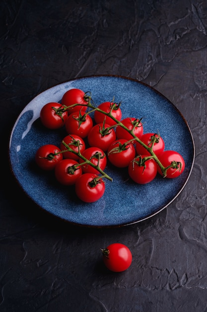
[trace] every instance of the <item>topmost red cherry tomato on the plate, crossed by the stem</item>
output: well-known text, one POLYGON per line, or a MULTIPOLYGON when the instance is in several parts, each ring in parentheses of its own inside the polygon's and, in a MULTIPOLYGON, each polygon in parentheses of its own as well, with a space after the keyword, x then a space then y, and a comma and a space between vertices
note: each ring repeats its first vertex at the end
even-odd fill
MULTIPOLYGON (((61 104, 68 107, 73 104, 84 104, 87 105, 87 96, 86 94, 80 90, 80 89, 70 89, 66 93, 64 93, 62 97, 61 104)), ((87 106, 83 105, 76 105, 68 109, 68 114, 70 115, 73 112, 82 111, 85 112, 87 109, 87 106)))

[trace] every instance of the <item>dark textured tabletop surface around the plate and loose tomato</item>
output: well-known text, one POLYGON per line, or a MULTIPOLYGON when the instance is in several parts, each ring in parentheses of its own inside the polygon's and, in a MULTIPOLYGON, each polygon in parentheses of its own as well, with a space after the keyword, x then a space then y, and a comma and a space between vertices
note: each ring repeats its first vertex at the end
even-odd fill
POLYGON ((0 311, 207 311, 207 2, 0 2, 0 311), (115 229, 69 226, 26 197, 9 170, 9 134, 38 93, 76 77, 143 81, 181 111, 196 144, 183 192, 158 215, 115 229), (108 272, 100 248, 133 253, 108 272))

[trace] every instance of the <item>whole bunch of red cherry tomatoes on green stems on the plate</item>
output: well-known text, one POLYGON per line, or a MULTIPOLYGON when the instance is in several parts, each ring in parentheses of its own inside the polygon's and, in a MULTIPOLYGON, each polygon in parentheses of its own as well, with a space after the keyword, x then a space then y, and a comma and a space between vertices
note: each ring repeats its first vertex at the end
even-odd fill
POLYGON ((165 151, 159 134, 143 133, 142 119, 122 119, 121 103, 103 102, 97 107, 89 92, 68 90, 61 103, 43 106, 40 120, 48 129, 65 127, 60 147, 48 144, 36 152, 36 162, 44 170, 54 170, 64 185, 75 185, 76 195, 94 202, 105 192, 103 178, 107 162, 128 167, 129 177, 139 184, 152 181, 158 174, 179 176, 185 161, 176 151, 165 151), (90 113, 94 112, 94 118, 90 113))

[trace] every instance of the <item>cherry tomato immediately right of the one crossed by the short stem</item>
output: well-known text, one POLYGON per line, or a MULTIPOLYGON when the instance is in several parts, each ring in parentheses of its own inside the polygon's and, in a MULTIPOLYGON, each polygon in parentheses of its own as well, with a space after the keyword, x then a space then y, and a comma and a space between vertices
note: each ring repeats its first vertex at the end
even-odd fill
POLYGON ((127 144, 127 142, 125 139, 116 140, 108 148, 108 159, 116 167, 127 167, 135 158, 135 148, 133 144, 127 144))

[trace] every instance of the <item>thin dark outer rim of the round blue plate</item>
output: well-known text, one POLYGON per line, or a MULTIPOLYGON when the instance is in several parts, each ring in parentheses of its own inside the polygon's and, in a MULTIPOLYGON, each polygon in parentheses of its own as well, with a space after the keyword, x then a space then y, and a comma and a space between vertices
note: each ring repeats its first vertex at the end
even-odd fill
POLYGON ((67 224, 71 224, 71 225, 74 225, 74 226, 79 226, 79 227, 85 227, 85 228, 118 228, 118 227, 123 227, 123 226, 128 226, 128 225, 133 225, 133 224, 136 224, 136 223, 140 223, 140 222, 143 222, 153 216, 155 216, 156 214, 160 213, 162 210, 164 210, 165 208, 167 208, 179 195, 180 193, 183 191, 183 189, 185 188, 186 184, 188 183, 189 181, 189 178, 191 176, 191 173, 192 173, 192 170, 193 170, 193 167, 194 167, 194 163, 195 163, 195 156, 196 156, 196 149, 195 149, 195 142, 194 142, 194 137, 193 137, 193 134, 192 134, 192 131, 188 125, 188 122, 187 120, 185 119, 185 117, 183 116, 183 114, 180 112, 180 110, 175 106, 175 104, 173 104, 166 96, 164 96, 162 93, 160 93, 158 90, 156 90, 154 87, 146 84, 145 82, 142 82, 142 81, 139 81, 138 79, 135 79, 135 78, 131 78, 131 77, 125 77, 125 76, 122 76, 122 75, 113 75, 113 74, 98 74, 98 75, 86 75, 86 76, 81 76, 81 77, 76 77, 76 78, 72 78, 72 79, 69 79, 69 80, 66 80, 66 81, 63 81, 63 82, 60 82, 58 84, 55 84, 54 86, 48 88, 48 89, 45 89, 43 90, 42 92, 39 92, 35 97, 33 97, 31 99, 31 101, 29 101, 25 106, 24 108, 21 110, 21 112, 19 113, 18 117, 16 118, 15 122, 13 123, 13 126, 11 127, 11 131, 10 131, 10 135, 9 135, 9 141, 8 141, 8 157, 9 157, 9 167, 10 167, 10 171, 15 179, 15 181, 17 182, 18 186, 20 187, 21 190, 23 190, 23 193, 26 194, 27 198, 29 198, 30 200, 32 200, 33 203, 35 203, 35 205, 37 207, 39 207, 39 209, 41 211, 44 211, 46 214, 54 217, 54 218, 58 218, 59 220, 67 223, 67 224), (94 225, 94 224, 83 224, 83 223, 77 223, 77 222, 73 222, 73 221, 70 221, 70 220, 67 220, 65 218, 62 218, 61 216, 58 216, 46 209, 44 209, 43 207, 41 207, 31 196, 30 194, 24 189, 24 187, 21 185, 21 183, 19 182, 16 174, 14 173, 13 171, 13 168, 12 168, 12 160, 11 160, 11 157, 10 157, 10 151, 11 151, 11 141, 12 141, 12 135, 13 135, 13 132, 15 130, 15 127, 16 125, 18 124, 18 121, 20 119, 20 117, 22 116, 22 114, 24 113, 24 111, 26 110, 27 106, 34 100, 36 99, 39 95, 41 95, 42 93, 46 92, 46 91, 49 91, 59 85, 63 85, 63 84, 66 84, 68 82, 72 82, 72 81, 76 81, 76 80, 81 80, 81 79, 87 79, 87 78, 100 78, 100 77, 112 77, 112 78, 120 78, 120 79, 125 79, 125 80, 129 80, 129 81, 134 81, 138 84, 141 84, 149 89, 151 89, 153 92, 157 93, 160 97, 162 97, 163 99, 165 99, 168 103, 170 103, 170 105, 173 106, 173 108, 177 111, 177 113, 180 115, 180 117, 182 118, 183 122, 185 123, 187 129, 188 129, 188 132, 190 134, 190 137, 191 137, 191 143, 192 143, 192 147, 193 147, 193 157, 192 157, 192 163, 191 163, 191 167, 190 167, 190 170, 189 170, 189 173, 188 173, 188 176, 185 180, 185 182, 183 183, 182 187, 180 188, 180 190, 176 193, 176 195, 166 204, 164 205, 163 207, 161 207, 160 209, 158 209, 158 211, 155 211, 154 213, 150 213, 149 215, 141 218, 141 219, 138 219, 138 220, 132 220, 130 222, 124 222, 124 223, 120 223, 120 224, 109 224, 109 225, 94 225))

